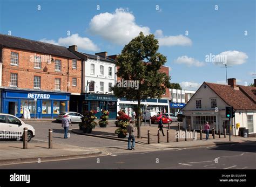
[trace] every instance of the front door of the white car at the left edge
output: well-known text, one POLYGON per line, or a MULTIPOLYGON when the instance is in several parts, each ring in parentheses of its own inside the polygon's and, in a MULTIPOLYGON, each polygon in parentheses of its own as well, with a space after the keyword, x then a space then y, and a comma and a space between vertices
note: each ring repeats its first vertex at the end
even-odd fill
POLYGON ((17 117, 6 115, 8 123, 8 131, 12 134, 12 137, 18 138, 23 134, 23 127, 21 121, 17 117))

